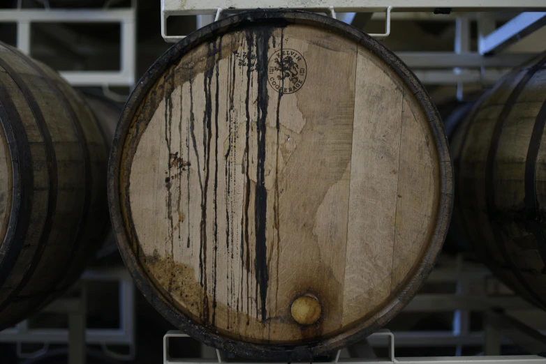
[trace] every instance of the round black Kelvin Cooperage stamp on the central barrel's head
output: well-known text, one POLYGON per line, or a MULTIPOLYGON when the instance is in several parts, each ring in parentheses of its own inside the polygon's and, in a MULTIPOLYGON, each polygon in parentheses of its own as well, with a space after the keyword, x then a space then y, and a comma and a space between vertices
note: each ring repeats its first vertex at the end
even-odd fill
POLYGON ((278 50, 267 63, 267 81, 280 93, 295 93, 307 77, 307 63, 297 50, 278 50))

